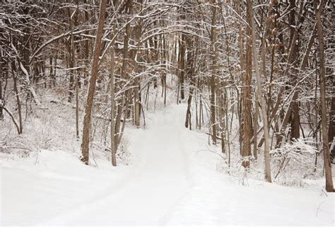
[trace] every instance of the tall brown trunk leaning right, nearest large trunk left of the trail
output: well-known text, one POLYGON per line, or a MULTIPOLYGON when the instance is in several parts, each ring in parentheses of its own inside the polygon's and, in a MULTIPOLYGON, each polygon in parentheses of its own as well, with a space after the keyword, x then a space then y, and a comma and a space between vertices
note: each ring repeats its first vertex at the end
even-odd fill
POLYGON ((97 35, 95 38, 95 47, 93 52, 93 62, 92 62, 92 70, 90 77, 90 85, 88 88, 88 95, 86 100, 85 107, 85 117, 83 121, 83 141, 81 144, 81 152, 82 157, 81 161, 88 165, 88 156, 89 156, 89 144, 90 144, 90 118, 92 114, 93 108, 93 98, 95 93, 95 84, 98 77, 99 70, 99 57, 101 52, 101 40, 103 35, 103 27, 105 23, 105 12, 106 12, 107 0, 101 0, 100 3, 100 15, 99 15, 99 23, 97 29, 97 35))

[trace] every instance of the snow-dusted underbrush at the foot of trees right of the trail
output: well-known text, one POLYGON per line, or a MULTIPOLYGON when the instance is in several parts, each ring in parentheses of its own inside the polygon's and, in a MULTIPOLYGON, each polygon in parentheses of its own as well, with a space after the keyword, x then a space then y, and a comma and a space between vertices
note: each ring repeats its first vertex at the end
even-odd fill
MULTIPOLYGON (((252 179, 264 181, 264 153, 259 153, 257 160, 251 158, 249 161, 249 168, 243 168, 240 154, 235 149, 230 157, 230 166, 228 156, 224 154, 217 168, 221 173, 240 179, 242 185, 248 185, 248 180, 252 179)), ((324 187, 323 156, 318 153, 315 142, 310 138, 298 139, 272 150, 270 164, 272 182, 278 185, 317 189, 324 187)))

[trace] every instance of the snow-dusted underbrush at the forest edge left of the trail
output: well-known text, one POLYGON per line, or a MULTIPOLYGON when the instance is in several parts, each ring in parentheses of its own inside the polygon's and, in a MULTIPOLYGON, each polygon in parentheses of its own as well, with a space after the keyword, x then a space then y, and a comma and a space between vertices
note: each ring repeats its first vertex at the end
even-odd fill
MULTIPOLYGON (((81 156, 81 137, 76 137, 74 104, 62 99, 58 90, 47 91, 41 99, 42 106, 32 103, 29 108, 23 108, 23 116, 26 116, 23 119, 23 134, 16 132, 13 122, 5 115, 1 121, 0 158, 27 158, 40 150, 61 150, 81 156), (29 110, 27 114, 26 110, 29 110)), ((83 115, 83 110, 79 111, 79 136, 82 134, 83 115)), ((109 136, 105 136, 106 140, 102 138, 106 121, 93 119, 93 123, 95 134, 90 146, 90 165, 98 166, 98 159, 110 159, 110 141, 109 136)), ((124 137, 117 153, 118 163, 127 165, 129 162, 127 146, 127 138, 124 137)))

